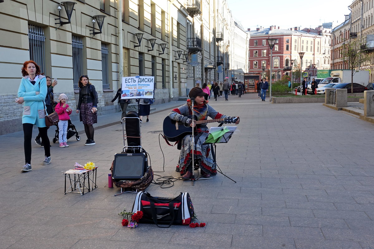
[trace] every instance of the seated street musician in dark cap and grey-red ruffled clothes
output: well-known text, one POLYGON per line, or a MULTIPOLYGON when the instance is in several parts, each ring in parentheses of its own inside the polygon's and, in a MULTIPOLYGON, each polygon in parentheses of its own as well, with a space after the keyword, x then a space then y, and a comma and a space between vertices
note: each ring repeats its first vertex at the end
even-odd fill
MULTIPOLYGON (((207 120, 208 116, 212 119, 231 119, 234 117, 229 117, 215 111, 210 105, 208 105, 208 100, 204 99, 206 93, 199 87, 194 87, 190 90, 188 94, 189 97, 195 98, 193 115, 197 118, 197 121, 207 120)), ((169 113, 169 118, 177 122, 182 122, 185 125, 190 125, 192 127, 192 105, 191 100, 188 99, 187 103, 183 106, 173 109, 169 113)), ((239 124, 239 117, 236 117, 235 124, 239 124)), ((224 121, 223 121, 224 122, 224 121)), ((196 126, 196 124, 195 124, 196 126)), ((208 137, 209 128, 206 124, 201 124, 196 127, 194 132, 195 136, 195 146, 194 146, 194 162, 197 167, 200 168, 200 173, 203 177, 208 178, 211 175, 216 175, 217 170, 213 168, 213 156, 211 152, 210 144, 203 144, 208 137)), ((192 131, 192 128, 191 128, 192 131)), ((181 140, 181 153, 179 156, 179 162, 176 171, 181 173, 184 180, 190 179, 192 174, 192 148, 191 148, 192 135, 186 135, 181 140)))

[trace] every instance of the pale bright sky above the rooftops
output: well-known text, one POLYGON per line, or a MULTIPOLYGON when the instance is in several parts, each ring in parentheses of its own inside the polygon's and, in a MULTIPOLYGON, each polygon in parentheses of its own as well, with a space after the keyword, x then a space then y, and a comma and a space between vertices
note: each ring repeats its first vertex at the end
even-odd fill
POLYGON ((260 26, 269 28, 272 25, 283 29, 303 29, 334 22, 333 25, 337 26, 344 21, 344 15, 350 13, 348 6, 352 0, 227 0, 227 3, 234 18, 245 30, 251 28, 252 31, 260 26))

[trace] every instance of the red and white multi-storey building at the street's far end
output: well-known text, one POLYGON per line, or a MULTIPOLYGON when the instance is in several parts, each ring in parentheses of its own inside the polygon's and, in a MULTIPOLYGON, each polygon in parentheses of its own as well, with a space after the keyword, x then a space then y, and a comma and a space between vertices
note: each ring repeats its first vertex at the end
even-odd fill
MULTIPOLYGON (((272 80, 281 79, 291 72, 290 60, 294 60, 293 66, 301 66, 303 71, 308 71, 311 77, 317 74, 317 69, 326 68, 323 56, 328 54, 325 46, 329 46, 331 33, 322 27, 316 29, 304 29, 299 31, 297 27, 291 29, 280 29, 270 26, 269 28, 257 28, 254 31, 248 29, 249 39, 249 73, 262 74, 262 66, 265 66, 265 74, 270 72, 270 47, 268 38, 278 39, 273 48, 272 80), (304 31, 305 30, 305 31, 304 31), (300 65, 299 52, 304 52, 300 65), (325 53, 325 54, 324 54, 325 53), (313 68, 315 64, 315 68, 313 68), (310 66, 310 69, 307 69, 310 66)), ((327 63, 325 63, 327 64, 327 63)), ((295 79, 295 82, 300 79, 295 79)))

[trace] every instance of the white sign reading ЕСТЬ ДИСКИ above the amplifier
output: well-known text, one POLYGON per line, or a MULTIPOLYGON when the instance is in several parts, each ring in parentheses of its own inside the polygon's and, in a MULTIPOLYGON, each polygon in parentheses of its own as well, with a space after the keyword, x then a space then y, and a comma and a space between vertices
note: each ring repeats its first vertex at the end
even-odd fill
POLYGON ((121 99, 153 99, 154 77, 122 77, 121 99))

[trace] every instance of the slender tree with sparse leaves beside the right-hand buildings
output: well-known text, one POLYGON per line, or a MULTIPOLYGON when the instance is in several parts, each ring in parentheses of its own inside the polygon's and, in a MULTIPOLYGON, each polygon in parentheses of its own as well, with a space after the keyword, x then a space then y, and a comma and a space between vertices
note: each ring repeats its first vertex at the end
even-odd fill
POLYGON ((366 42, 361 38, 345 40, 341 50, 341 56, 344 62, 348 63, 351 71, 351 93, 353 93, 353 75, 356 68, 359 69, 361 63, 369 59, 369 55, 365 53, 366 42))

